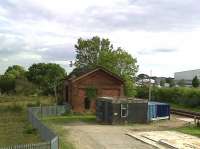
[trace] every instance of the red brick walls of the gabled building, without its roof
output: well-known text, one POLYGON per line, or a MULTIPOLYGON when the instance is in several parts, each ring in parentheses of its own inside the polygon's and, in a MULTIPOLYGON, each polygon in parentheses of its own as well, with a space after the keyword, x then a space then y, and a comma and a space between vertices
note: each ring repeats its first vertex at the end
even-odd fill
MULTIPOLYGON (((89 86, 94 86, 97 89, 97 96, 123 96, 123 83, 108 75, 103 71, 97 71, 89 76, 86 76, 76 82, 72 82, 71 88, 71 105, 74 111, 84 112, 84 100, 86 98, 85 89, 89 86)), ((95 99, 92 100, 91 110, 95 111, 95 99)))

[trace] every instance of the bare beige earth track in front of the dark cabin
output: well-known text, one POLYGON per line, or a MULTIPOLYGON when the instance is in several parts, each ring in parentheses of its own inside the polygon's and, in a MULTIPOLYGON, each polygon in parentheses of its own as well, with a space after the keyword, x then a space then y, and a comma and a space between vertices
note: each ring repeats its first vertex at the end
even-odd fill
POLYGON ((180 127, 186 122, 176 119, 154 122, 151 124, 134 124, 126 126, 72 123, 65 127, 69 131, 69 139, 76 149, 152 149, 130 136, 127 132, 169 130, 180 127))

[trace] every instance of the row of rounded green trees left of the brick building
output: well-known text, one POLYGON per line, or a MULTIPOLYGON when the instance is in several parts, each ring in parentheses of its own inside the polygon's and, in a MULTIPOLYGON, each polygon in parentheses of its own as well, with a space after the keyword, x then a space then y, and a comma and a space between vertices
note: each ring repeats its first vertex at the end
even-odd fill
POLYGON ((28 70, 19 65, 9 66, 0 76, 0 93, 53 95, 65 76, 65 70, 53 63, 33 64, 28 70))

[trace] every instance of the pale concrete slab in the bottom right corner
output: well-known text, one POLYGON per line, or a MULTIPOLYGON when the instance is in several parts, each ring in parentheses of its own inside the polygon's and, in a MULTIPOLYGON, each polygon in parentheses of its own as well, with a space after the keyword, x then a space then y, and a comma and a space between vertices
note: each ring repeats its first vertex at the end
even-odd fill
POLYGON ((176 131, 129 132, 129 135, 158 148, 200 149, 200 138, 176 131))

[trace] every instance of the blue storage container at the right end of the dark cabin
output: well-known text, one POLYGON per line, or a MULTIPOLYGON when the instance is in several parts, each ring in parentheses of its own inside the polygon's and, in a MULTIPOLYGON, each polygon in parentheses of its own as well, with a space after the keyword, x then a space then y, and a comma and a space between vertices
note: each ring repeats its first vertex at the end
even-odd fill
POLYGON ((170 119, 170 106, 167 103, 148 102, 148 120, 170 119))

